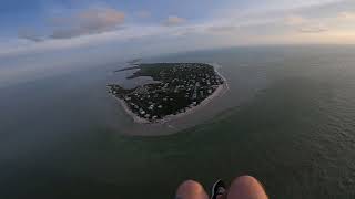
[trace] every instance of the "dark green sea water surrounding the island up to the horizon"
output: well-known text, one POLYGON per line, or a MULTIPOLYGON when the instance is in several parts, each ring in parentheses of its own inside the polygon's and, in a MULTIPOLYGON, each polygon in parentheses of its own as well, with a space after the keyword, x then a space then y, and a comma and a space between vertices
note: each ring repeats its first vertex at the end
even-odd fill
POLYGON ((216 62, 217 113, 170 136, 129 136, 104 90, 115 66, 1 88, 0 198, 173 198, 253 175, 271 198, 355 197, 355 46, 239 48, 150 61, 216 62), (102 86, 103 85, 103 86, 102 86))

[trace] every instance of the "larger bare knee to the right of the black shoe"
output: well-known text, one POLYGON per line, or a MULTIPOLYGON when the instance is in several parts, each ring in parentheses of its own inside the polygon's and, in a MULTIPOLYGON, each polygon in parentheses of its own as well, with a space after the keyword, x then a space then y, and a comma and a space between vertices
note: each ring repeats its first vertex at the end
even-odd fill
POLYGON ((252 176, 241 176, 235 178, 231 184, 229 196, 230 195, 231 198, 267 198, 262 184, 252 176))

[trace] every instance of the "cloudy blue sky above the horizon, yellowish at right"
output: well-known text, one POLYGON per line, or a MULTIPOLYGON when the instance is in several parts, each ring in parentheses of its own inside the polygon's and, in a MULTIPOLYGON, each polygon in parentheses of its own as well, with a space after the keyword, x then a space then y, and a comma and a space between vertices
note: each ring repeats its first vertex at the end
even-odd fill
POLYGON ((165 53, 355 44, 355 1, 1 0, 0 29, 1 87, 69 67, 165 53))

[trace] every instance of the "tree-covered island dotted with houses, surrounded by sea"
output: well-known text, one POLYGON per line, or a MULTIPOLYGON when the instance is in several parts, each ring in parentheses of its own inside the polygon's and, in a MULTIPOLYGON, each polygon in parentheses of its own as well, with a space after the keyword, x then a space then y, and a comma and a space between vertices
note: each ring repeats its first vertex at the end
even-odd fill
POLYGON ((138 123, 159 123, 191 112, 223 90, 225 80, 205 63, 134 63, 115 72, 138 70, 126 78, 150 76, 154 81, 134 88, 109 84, 109 93, 138 123))

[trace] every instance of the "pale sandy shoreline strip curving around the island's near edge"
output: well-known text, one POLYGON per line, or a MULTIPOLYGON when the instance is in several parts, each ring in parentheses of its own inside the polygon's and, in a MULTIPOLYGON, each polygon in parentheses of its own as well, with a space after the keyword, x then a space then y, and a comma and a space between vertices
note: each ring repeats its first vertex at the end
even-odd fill
MULTIPOLYGON (((209 63, 207 63, 209 64, 209 63)), ((143 117, 138 116, 136 114, 134 114, 128 106, 126 102, 122 98, 119 98, 116 96, 113 95, 114 98, 119 100, 119 102, 121 103, 121 106, 123 107, 123 109, 125 111, 125 113, 128 115, 130 115, 133 118, 134 123, 138 124, 145 124, 145 125, 154 125, 154 124, 165 124, 170 121, 173 119, 178 119, 181 118, 183 116, 193 114, 194 112, 196 112, 197 109, 201 109, 203 106, 210 104, 213 98, 217 97, 217 96, 222 96, 223 94, 225 94, 229 91, 229 84, 226 78, 217 71, 217 67, 222 67, 219 64, 209 64, 212 65, 214 67, 214 72, 222 77, 223 80, 223 84, 219 85, 219 87, 205 100, 203 100, 199 105, 193 106, 191 108, 186 108, 185 112, 176 114, 176 115, 166 115, 165 117, 163 117, 162 119, 158 119, 155 122, 150 122, 149 119, 145 119, 143 117)))

